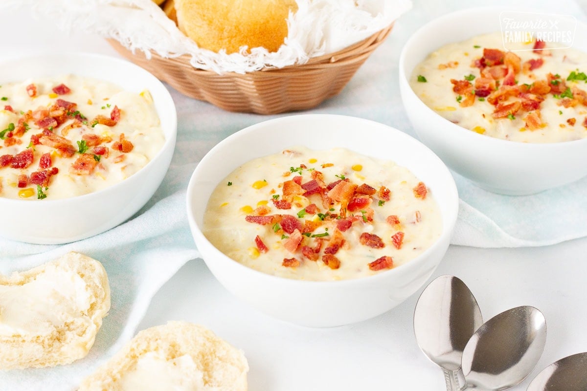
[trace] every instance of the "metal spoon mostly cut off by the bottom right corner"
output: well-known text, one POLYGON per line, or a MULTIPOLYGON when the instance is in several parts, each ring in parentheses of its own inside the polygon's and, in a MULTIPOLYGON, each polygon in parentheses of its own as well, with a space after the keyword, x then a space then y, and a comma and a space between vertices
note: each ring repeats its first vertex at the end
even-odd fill
POLYGON ((587 353, 578 353, 547 366, 532 380, 527 391, 587 390, 587 353))

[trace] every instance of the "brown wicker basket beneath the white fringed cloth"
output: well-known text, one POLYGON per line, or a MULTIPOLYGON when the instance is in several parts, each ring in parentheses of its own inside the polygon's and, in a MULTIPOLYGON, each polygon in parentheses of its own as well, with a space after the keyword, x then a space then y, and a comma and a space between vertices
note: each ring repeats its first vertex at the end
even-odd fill
POLYGON ((111 39, 109 42, 121 55, 184 95, 228 111, 276 114, 316 107, 338 94, 389 35, 392 26, 339 52, 312 58, 302 65, 245 74, 195 69, 187 55, 166 59, 152 53, 149 60, 143 52, 133 55, 118 41, 111 39))

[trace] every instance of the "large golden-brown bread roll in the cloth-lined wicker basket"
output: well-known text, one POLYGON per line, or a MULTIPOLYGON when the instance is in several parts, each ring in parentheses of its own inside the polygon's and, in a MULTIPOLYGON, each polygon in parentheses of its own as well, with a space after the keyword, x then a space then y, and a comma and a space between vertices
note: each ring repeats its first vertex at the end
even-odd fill
POLYGON ((295 0, 174 0, 180 30, 198 46, 238 52, 241 46, 276 52, 288 36, 295 0))

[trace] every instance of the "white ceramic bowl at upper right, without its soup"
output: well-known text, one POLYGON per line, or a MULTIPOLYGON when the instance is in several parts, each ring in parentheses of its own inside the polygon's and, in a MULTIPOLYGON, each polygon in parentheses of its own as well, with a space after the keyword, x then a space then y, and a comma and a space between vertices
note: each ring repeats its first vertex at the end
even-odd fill
MULTIPOLYGON (((587 138, 528 144, 477 134, 441 117, 411 89, 413 69, 448 43, 500 31, 507 8, 471 8, 427 23, 408 40, 400 55, 400 91, 420 140, 454 171, 488 191, 524 195, 574 182, 587 175, 587 138)), ((587 52, 587 26, 578 23, 574 47, 587 52)))

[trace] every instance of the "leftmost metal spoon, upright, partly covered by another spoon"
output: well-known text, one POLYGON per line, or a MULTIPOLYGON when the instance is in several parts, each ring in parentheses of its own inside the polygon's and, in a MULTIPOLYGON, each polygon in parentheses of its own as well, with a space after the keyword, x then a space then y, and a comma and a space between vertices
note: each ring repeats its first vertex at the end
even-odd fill
POLYGON ((483 318, 473 294, 454 276, 440 276, 420 295, 414 334, 420 349, 444 371, 447 391, 464 389, 461 358, 483 318))

